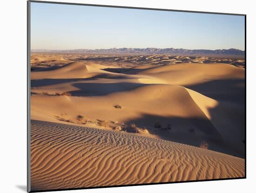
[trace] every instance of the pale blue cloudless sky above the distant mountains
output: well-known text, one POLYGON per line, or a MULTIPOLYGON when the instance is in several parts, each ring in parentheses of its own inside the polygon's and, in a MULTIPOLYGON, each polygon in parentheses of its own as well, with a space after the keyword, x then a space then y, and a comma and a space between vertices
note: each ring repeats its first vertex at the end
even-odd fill
POLYGON ((31 3, 31 49, 244 50, 244 16, 31 3))

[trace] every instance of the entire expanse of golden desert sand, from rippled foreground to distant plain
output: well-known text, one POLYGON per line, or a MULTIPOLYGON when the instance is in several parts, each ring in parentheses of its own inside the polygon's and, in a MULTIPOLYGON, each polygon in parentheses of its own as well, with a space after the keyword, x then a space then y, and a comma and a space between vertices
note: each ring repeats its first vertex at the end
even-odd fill
POLYGON ((33 190, 244 177, 243 64, 138 57, 33 55, 33 190))

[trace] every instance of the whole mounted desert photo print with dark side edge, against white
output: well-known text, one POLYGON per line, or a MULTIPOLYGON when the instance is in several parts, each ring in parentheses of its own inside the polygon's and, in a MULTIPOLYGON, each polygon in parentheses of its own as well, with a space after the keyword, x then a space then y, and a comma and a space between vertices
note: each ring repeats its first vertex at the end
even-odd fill
POLYGON ((28 192, 245 178, 245 17, 28 1, 28 192))

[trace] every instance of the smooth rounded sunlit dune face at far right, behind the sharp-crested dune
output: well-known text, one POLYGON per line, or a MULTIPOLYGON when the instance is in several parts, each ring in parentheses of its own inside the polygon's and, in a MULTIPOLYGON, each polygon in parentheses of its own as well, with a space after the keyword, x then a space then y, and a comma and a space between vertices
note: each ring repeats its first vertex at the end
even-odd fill
POLYGON ((212 80, 243 79, 244 69, 229 64, 191 64, 166 65, 141 70, 144 74, 162 79, 169 84, 193 85, 212 80))

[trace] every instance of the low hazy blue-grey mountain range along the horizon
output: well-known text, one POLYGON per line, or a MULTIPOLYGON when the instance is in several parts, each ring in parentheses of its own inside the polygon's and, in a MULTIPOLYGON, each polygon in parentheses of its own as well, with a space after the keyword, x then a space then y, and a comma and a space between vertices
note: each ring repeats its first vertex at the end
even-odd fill
POLYGON ((175 49, 175 48, 111 48, 111 49, 74 49, 74 50, 46 50, 35 49, 31 50, 33 53, 147 53, 147 54, 228 54, 228 55, 244 55, 244 51, 239 49, 219 49, 219 50, 189 50, 189 49, 175 49))

